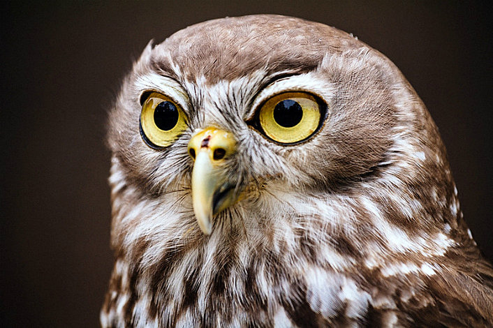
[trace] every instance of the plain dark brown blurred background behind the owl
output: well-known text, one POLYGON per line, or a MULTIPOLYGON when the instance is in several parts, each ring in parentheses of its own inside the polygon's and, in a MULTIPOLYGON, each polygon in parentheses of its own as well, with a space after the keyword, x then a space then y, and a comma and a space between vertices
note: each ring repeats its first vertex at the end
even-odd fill
POLYGON ((236 0, 1 6, 2 327, 98 325, 112 267, 105 113, 149 39, 160 42, 216 17, 304 17, 352 32, 386 54, 439 126, 466 220, 493 258, 493 39, 486 6, 236 0))

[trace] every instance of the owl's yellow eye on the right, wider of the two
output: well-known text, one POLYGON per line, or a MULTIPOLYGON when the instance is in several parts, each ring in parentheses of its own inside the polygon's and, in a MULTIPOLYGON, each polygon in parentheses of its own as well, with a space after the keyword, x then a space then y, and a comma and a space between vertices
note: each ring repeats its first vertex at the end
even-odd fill
POLYGON ((267 137, 292 144, 306 140, 321 125, 321 100, 304 92, 286 92, 267 100, 258 114, 267 137))

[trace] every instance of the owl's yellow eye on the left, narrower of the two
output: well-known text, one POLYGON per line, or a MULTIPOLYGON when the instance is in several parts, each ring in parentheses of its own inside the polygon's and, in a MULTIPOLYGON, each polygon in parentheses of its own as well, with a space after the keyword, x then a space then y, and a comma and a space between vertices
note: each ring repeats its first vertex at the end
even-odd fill
POLYGON ((185 129, 182 107, 157 92, 149 95, 140 113, 140 134, 150 147, 168 147, 185 129))

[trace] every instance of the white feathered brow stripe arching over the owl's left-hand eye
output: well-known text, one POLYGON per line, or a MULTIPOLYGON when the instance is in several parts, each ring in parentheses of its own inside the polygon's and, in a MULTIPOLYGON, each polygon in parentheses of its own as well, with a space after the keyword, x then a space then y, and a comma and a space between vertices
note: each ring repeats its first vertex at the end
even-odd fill
POLYGON ((175 80, 170 79, 170 77, 151 72, 147 75, 138 77, 135 81, 135 87, 138 89, 140 97, 148 91, 157 91, 165 94, 172 98, 172 100, 175 100, 178 105, 182 106, 184 112, 190 117, 191 104, 189 96, 186 94, 182 85, 175 80))

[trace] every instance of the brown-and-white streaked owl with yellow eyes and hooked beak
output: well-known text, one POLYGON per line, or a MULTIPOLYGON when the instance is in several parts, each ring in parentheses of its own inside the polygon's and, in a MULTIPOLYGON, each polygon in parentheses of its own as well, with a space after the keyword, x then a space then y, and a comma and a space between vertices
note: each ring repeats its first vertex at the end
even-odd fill
POLYGON ((491 327, 439 132, 383 54, 279 15, 149 43, 109 115, 103 327, 491 327))

